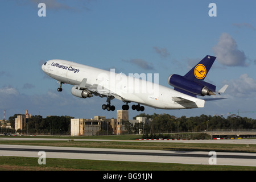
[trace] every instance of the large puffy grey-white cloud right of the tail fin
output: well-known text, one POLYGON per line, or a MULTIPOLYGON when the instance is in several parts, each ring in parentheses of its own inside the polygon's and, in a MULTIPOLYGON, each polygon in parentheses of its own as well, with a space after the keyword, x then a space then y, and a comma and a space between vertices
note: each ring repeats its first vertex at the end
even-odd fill
POLYGON ((229 67, 247 66, 245 53, 237 49, 236 40, 225 32, 221 34, 218 44, 212 49, 217 61, 222 65, 229 67))

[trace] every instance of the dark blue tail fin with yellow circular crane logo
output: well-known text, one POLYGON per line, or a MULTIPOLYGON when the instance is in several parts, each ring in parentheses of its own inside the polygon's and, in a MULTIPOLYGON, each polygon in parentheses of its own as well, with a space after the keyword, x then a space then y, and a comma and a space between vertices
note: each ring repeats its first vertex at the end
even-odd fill
POLYGON ((214 63, 216 57, 214 56, 205 56, 195 67, 193 67, 184 78, 192 81, 201 80, 207 76, 212 64, 214 63))

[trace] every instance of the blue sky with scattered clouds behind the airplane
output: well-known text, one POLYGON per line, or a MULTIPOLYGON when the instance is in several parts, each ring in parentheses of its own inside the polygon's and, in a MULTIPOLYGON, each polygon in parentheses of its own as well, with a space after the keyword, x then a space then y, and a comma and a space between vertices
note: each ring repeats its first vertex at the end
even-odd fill
MULTIPOLYGON (((169 86, 172 73, 185 75, 205 55, 217 56, 205 81, 229 84, 228 99, 203 109, 159 110, 180 117, 206 114, 256 118, 255 1, 2 0, 0 2, 0 113, 116 117, 101 109, 105 98, 72 96, 71 85, 48 78, 41 65, 64 59, 116 72, 159 73, 169 86), (46 4, 46 17, 38 4, 46 4), (210 3, 217 16, 210 17, 210 3)), ((116 109, 122 102, 112 101, 116 109)), ((139 114, 130 110, 130 119, 139 114)), ((0 114, 0 118, 2 114, 0 114)))

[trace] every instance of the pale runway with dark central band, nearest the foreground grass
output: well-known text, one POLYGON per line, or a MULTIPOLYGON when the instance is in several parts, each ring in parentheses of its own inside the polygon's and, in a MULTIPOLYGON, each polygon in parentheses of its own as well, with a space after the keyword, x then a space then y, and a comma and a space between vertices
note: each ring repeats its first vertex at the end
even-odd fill
MULTIPOLYGON (((160 151, 160 150, 127 150, 109 148, 79 148, 79 147, 49 147, 49 146, 23 146, 0 145, 1 156, 24 156, 39 158, 39 151, 46 152, 47 158, 62 159, 89 159, 89 160, 115 160, 130 162, 158 162, 181 164, 206 164, 213 161, 209 152, 193 151, 160 151)), ((256 167, 256 154, 216 152, 216 165, 254 166, 256 167)))

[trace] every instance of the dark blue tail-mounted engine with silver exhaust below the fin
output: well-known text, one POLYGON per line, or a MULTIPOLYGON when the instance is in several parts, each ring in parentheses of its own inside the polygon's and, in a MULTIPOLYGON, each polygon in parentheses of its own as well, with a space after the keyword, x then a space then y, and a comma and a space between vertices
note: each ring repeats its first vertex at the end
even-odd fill
POLYGON ((168 77, 168 84, 174 86, 174 88, 184 90, 186 92, 198 95, 198 96, 210 96, 215 95, 215 85, 209 84, 204 81, 192 81, 184 78, 180 75, 170 75, 168 77))

